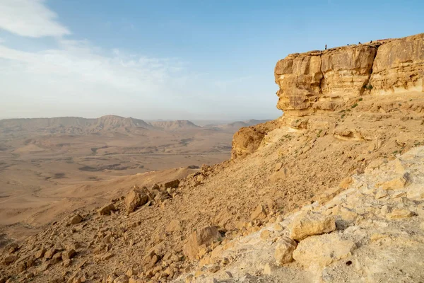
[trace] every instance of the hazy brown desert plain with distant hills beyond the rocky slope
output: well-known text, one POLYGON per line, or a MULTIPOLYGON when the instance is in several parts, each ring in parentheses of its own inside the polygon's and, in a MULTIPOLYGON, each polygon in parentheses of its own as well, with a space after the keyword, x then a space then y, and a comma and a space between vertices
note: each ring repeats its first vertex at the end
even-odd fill
POLYGON ((232 134, 260 122, 199 127, 113 115, 0 120, 1 233, 23 238, 76 207, 109 200, 126 190, 127 175, 167 181, 220 163, 230 157, 232 134), (94 189, 110 180, 116 191, 94 189))

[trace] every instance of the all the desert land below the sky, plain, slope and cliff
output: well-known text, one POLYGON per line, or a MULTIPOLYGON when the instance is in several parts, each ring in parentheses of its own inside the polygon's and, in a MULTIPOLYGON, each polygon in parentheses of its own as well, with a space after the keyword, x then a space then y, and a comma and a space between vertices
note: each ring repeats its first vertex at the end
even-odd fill
POLYGON ((240 123, 0 122, 1 282, 422 282, 424 34, 274 76, 283 115, 231 152, 240 123))

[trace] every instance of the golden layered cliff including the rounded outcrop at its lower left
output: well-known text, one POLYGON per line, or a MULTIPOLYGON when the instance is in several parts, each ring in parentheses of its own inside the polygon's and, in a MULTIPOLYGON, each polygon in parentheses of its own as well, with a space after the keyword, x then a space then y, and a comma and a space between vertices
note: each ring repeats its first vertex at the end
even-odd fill
MULTIPOLYGON (((369 124, 360 129, 354 127, 358 122, 345 125, 343 118, 353 112, 358 116, 388 112, 407 116, 410 111, 421 115, 424 33, 290 54, 277 62, 274 75, 279 86, 277 108, 284 115, 272 123, 240 129, 232 140, 233 159, 256 151, 266 144, 267 133, 283 126, 359 140, 376 131, 369 124)), ((375 119, 379 118, 371 118, 375 119)))

